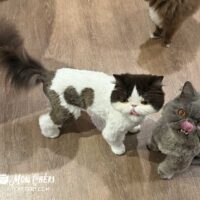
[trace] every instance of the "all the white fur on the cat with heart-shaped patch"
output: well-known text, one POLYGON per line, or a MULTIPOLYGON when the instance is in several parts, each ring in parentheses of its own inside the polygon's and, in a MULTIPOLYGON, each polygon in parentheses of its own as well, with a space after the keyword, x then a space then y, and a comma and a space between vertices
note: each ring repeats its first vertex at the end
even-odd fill
MULTIPOLYGON (((101 72, 62 68, 57 70, 50 89, 59 95, 61 105, 78 118, 82 109, 69 105, 65 101, 63 93, 69 86, 73 86, 78 93, 81 93, 86 87, 92 88, 94 90, 93 104, 84 111, 89 114, 95 126, 102 131, 102 135, 111 146, 112 151, 120 155, 125 152, 123 141, 126 133, 139 125, 150 111, 155 110, 150 108, 151 106, 141 105, 142 98, 136 88, 134 88, 129 102, 112 104, 110 97, 115 87, 114 83, 113 76, 101 72), (134 109, 142 115, 130 115, 133 109, 132 105, 135 105, 134 109)), ((58 127, 52 122, 49 115, 40 118, 40 126, 42 134, 47 137, 52 138, 59 135, 58 127)))

